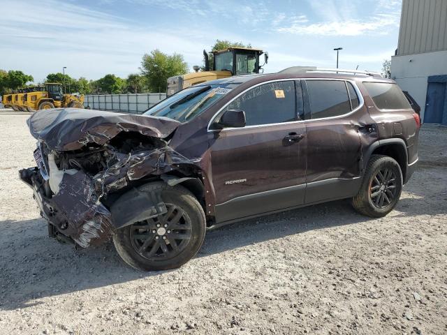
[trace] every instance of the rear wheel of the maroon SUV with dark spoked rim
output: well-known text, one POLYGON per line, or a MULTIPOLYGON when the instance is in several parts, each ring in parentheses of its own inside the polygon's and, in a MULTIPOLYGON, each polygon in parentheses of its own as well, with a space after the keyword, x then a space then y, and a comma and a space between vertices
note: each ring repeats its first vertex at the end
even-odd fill
POLYGON ((402 180, 397 161, 389 156, 372 155, 360 191, 352 200, 354 209, 373 218, 386 216, 399 201, 402 180))

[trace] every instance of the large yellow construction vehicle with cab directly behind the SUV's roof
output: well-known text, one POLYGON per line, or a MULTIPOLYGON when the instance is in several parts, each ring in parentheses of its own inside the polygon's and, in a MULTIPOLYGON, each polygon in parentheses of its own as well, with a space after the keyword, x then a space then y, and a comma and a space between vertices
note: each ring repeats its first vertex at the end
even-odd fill
POLYGON ((212 54, 214 56, 212 70, 210 70, 208 54, 203 50, 203 56, 205 57, 204 71, 199 72, 199 67, 194 66, 196 72, 169 77, 166 96, 172 96, 178 91, 186 89, 186 87, 210 80, 231 77, 232 75, 259 73, 268 61, 267 52, 249 47, 228 47, 228 49, 214 51, 212 54), (259 64, 261 54, 264 54, 264 64, 262 65, 259 64))

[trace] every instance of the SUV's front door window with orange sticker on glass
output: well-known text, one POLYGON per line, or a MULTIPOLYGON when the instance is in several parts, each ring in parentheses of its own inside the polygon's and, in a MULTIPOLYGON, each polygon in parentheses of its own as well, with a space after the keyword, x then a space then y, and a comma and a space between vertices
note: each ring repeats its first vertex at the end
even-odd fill
POLYGON ((236 98, 229 110, 243 110, 247 126, 295 121, 295 83, 269 82, 236 98))

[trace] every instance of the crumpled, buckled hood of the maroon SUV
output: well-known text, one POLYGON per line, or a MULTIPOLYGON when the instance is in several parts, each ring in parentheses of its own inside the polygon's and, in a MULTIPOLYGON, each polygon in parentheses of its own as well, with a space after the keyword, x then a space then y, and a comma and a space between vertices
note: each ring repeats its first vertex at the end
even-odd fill
POLYGON ((165 138, 180 125, 166 117, 150 117, 101 110, 58 108, 38 110, 27 120, 37 140, 57 151, 70 151, 94 142, 104 144, 122 131, 165 138))

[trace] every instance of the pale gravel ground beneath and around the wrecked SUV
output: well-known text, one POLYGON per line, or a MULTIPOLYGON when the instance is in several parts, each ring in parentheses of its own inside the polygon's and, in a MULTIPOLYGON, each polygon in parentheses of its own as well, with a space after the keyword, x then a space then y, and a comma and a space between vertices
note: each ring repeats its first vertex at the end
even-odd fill
POLYGON ((207 234, 174 271, 112 244, 47 237, 17 170, 27 113, 0 112, 1 334, 446 334, 447 129, 420 133, 420 168, 386 218, 338 201, 207 234))

